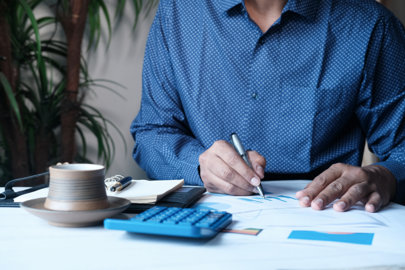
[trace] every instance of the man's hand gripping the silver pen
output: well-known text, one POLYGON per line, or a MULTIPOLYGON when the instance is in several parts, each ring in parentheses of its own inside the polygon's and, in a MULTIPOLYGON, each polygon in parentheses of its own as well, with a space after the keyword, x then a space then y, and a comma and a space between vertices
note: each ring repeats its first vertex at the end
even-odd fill
POLYGON ((199 156, 200 176, 211 193, 248 196, 264 177, 266 159, 256 151, 247 151, 253 170, 226 141, 216 141, 199 156))

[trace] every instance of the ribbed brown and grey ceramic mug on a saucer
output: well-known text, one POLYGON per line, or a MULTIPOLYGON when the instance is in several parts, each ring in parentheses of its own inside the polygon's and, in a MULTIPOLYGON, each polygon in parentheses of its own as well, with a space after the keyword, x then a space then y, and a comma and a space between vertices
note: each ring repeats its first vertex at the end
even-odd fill
POLYGON ((63 164, 49 167, 49 193, 44 207, 55 211, 89 211, 110 206, 104 186, 105 167, 63 164))

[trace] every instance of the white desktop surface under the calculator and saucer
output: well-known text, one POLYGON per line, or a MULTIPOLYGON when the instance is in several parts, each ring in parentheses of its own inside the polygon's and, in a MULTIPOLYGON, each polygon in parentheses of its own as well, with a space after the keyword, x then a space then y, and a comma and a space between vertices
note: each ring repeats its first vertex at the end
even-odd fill
MULTIPOLYGON (((289 186, 298 191, 306 183, 280 181, 265 185, 289 186)), ((405 207, 390 204, 374 216, 380 220, 389 217, 386 226, 327 228, 332 232, 375 233, 372 245, 357 245, 287 239, 292 230, 311 230, 294 224, 265 228, 258 236, 220 233, 211 240, 132 234, 102 226, 59 228, 21 208, 0 207, 0 269, 405 268, 405 224, 400 223, 405 207)))

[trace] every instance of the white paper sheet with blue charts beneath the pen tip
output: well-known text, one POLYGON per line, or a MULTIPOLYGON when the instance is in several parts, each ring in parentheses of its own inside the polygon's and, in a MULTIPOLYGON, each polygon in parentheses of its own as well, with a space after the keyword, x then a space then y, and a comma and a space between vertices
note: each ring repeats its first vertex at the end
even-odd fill
MULTIPOLYGON (((304 182, 302 188, 306 185, 304 182)), ((233 222, 227 229, 272 227, 377 227, 386 228, 389 221, 380 214, 368 213, 362 203, 349 211, 336 212, 332 204, 321 211, 301 207, 295 193, 300 186, 263 182, 266 198, 260 195, 239 197, 206 193, 192 208, 224 210, 233 214, 233 222)))

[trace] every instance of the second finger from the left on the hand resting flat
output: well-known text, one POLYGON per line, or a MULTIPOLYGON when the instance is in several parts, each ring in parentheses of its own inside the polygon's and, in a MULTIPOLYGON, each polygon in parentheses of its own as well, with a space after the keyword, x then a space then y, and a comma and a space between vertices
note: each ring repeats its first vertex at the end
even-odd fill
MULTIPOLYGON (((329 184, 318 196, 311 202, 314 210, 322 210, 337 198, 342 197, 357 182, 350 177, 342 176, 329 184)), ((364 196, 363 196, 364 197, 364 196)), ((361 199, 361 198, 360 198, 361 199)))

